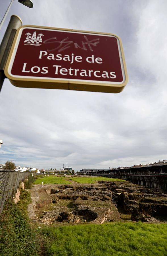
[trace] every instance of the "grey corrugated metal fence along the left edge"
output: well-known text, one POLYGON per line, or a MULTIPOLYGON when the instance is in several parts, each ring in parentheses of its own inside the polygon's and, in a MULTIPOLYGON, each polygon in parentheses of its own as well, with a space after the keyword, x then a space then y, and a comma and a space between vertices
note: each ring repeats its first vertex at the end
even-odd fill
POLYGON ((29 175, 30 173, 28 172, 0 170, 0 214, 5 201, 9 197, 14 196, 20 182, 23 182, 29 175))

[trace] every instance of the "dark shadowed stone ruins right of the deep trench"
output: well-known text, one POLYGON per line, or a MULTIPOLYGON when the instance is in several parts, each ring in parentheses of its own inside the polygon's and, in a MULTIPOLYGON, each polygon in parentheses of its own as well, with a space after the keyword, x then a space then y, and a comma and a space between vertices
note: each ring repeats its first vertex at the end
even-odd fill
POLYGON ((167 194, 162 189, 147 188, 126 183, 108 183, 112 193, 117 196, 117 205, 121 205, 131 220, 142 222, 167 221, 167 194))

